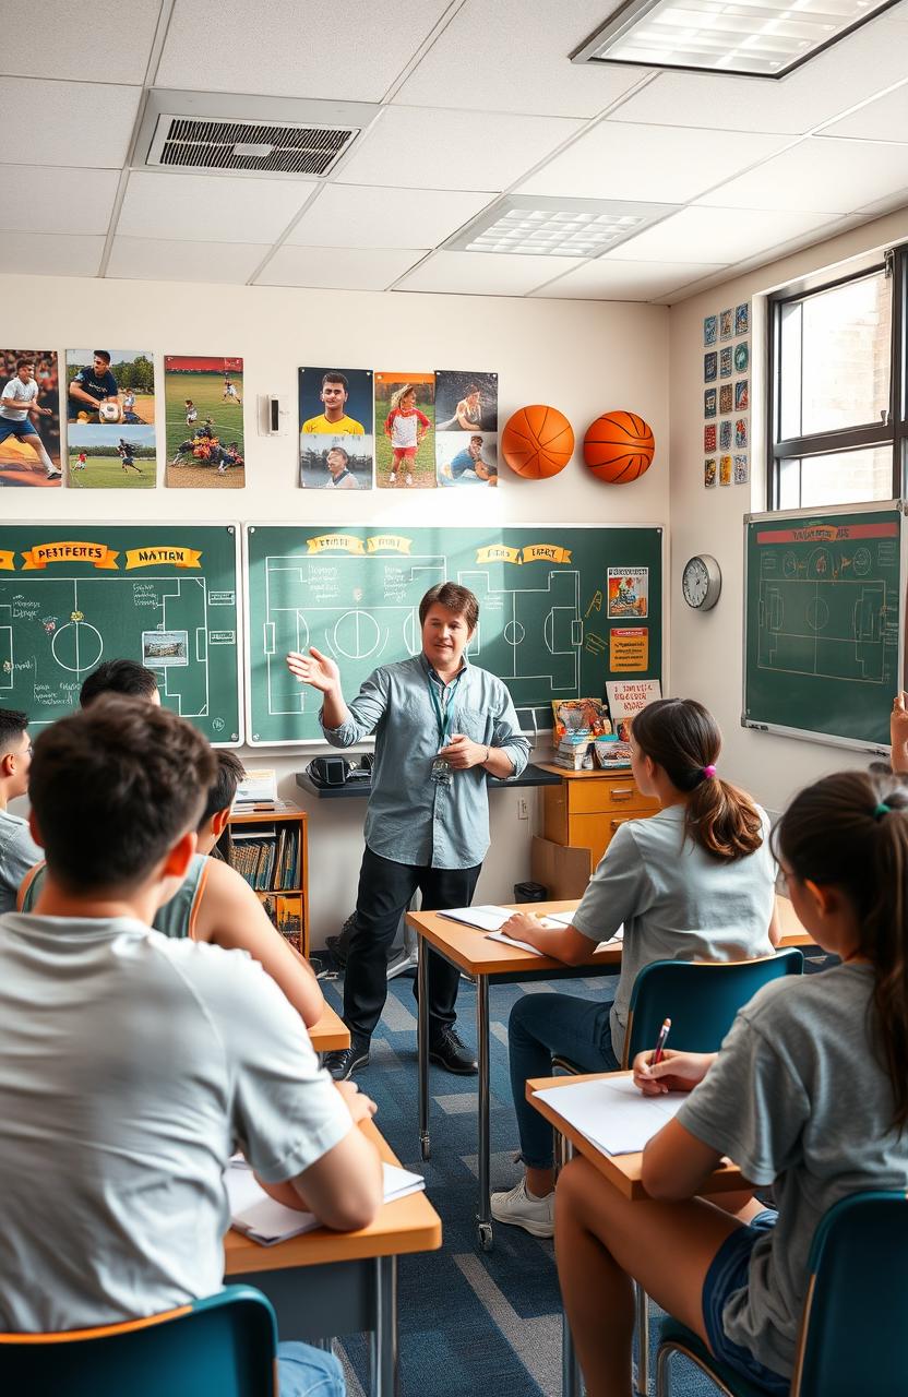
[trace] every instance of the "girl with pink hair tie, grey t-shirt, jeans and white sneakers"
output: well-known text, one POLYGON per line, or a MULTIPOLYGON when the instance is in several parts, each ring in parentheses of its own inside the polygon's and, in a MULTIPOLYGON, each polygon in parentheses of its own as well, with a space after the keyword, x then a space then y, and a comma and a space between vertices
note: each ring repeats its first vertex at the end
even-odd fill
POLYGON ((624 925, 615 1003, 525 995, 511 1010, 511 1091, 527 1176, 492 1194, 492 1217, 552 1236, 552 1129, 525 1099, 528 1077, 546 1077, 552 1055, 581 1071, 620 1067, 637 974, 655 960, 736 961, 771 956, 775 862, 766 810, 715 771, 722 735, 693 698, 659 698, 634 718, 631 771, 662 809, 616 831, 571 926, 548 930, 517 912, 501 930, 570 964, 624 925))

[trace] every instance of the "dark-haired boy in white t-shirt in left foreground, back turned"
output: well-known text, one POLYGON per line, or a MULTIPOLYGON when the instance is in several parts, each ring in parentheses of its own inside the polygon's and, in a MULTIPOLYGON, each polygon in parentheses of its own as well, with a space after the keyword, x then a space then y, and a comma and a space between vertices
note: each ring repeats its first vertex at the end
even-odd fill
MULTIPOLYGON (((151 930, 184 877, 205 739, 105 696, 35 743, 41 912, 0 918, 0 1329, 59 1331, 221 1289, 224 1169, 242 1150, 281 1201, 366 1227, 374 1106, 317 1065, 247 956, 151 930)), ((282 1345, 281 1397, 344 1391, 339 1365, 282 1345)))

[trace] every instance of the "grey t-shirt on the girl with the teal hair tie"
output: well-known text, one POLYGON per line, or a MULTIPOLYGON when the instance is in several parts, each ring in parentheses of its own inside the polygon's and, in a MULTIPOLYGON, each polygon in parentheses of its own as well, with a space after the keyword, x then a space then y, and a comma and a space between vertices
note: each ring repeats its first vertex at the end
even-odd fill
POLYGON ((869 965, 786 978, 738 1014, 705 1080, 676 1119, 729 1155, 752 1183, 775 1185, 775 1228, 753 1249, 750 1281, 725 1305, 725 1333, 774 1372, 795 1362, 817 1222, 862 1189, 908 1187, 908 1133, 867 1034, 869 965))

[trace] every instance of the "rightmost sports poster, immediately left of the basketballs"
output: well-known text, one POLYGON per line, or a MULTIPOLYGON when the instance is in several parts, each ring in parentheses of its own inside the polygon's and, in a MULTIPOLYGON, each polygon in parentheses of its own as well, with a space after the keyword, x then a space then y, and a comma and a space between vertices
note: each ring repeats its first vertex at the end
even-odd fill
POLYGON ((499 483, 499 376, 437 369, 434 455, 440 486, 499 483))

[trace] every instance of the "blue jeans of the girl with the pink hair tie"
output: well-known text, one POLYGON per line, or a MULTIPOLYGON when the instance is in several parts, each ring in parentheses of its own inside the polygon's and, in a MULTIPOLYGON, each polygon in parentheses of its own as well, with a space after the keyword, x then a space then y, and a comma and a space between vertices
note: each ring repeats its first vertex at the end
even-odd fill
POLYGON ((605 996, 576 999, 573 995, 524 995, 511 1009, 507 1046, 511 1062, 511 1092, 520 1130, 520 1153, 531 1169, 555 1165, 552 1126, 527 1101, 528 1077, 550 1077, 552 1058, 567 1058, 581 1071, 617 1071, 612 1051, 609 1013, 617 978, 605 979, 605 996))

